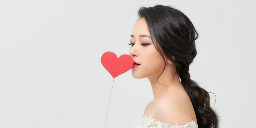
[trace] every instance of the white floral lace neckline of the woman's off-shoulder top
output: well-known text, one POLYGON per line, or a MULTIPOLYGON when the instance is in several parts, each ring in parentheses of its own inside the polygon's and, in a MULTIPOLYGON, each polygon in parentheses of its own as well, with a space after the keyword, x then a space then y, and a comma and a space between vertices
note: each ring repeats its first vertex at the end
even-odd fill
POLYGON ((139 117, 134 128, 198 128, 196 121, 191 121, 183 126, 165 124, 161 120, 157 121, 151 117, 139 117))

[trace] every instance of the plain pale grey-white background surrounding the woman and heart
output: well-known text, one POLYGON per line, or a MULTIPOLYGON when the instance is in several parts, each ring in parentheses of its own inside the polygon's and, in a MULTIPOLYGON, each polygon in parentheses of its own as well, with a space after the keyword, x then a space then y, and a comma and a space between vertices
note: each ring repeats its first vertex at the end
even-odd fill
MULTIPOLYGON (((199 33, 191 79, 210 93, 221 128, 255 125, 253 1, 0 1, 0 128, 103 128, 113 78, 101 64, 129 54, 138 9, 184 12, 199 33)), ((106 128, 133 128, 153 100, 147 78, 114 79, 106 128)))

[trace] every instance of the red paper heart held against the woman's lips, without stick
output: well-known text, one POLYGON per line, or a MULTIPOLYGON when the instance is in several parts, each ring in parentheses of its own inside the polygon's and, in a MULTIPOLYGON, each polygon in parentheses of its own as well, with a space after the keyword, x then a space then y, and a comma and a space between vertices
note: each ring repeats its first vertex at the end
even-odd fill
POLYGON ((116 78, 132 68, 133 59, 128 54, 123 54, 117 58, 115 53, 105 52, 101 56, 101 64, 113 78, 116 78))

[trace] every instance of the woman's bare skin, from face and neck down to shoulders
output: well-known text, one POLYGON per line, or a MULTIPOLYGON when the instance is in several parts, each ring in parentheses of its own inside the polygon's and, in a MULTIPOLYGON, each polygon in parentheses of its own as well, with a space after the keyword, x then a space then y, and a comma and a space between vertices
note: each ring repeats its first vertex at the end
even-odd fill
POLYGON ((150 36, 144 18, 137 20, 132 35, 129 55, 140 64, 138 67, 131 69, 132 76, 137 79, 148 78, 154 95, 154 100, 148 103, 144 110, 144 116, 151 116, 157 121, 161 119, 163 123, 173 125, 176 123, 184 125, 191 122, 191 120, 196 121, 191 100, 180 82, 178 73, 173 77, 176 72, 176 65, 166 57, 166 67, 158 82, 167 87, 155 82, 161 74, 165 62, 153 45, 151 38, 139 36, 150 36), (141 44, 149 45, 143 46, 141 44), (153 86, 154 83, 155 86, 153 86))

